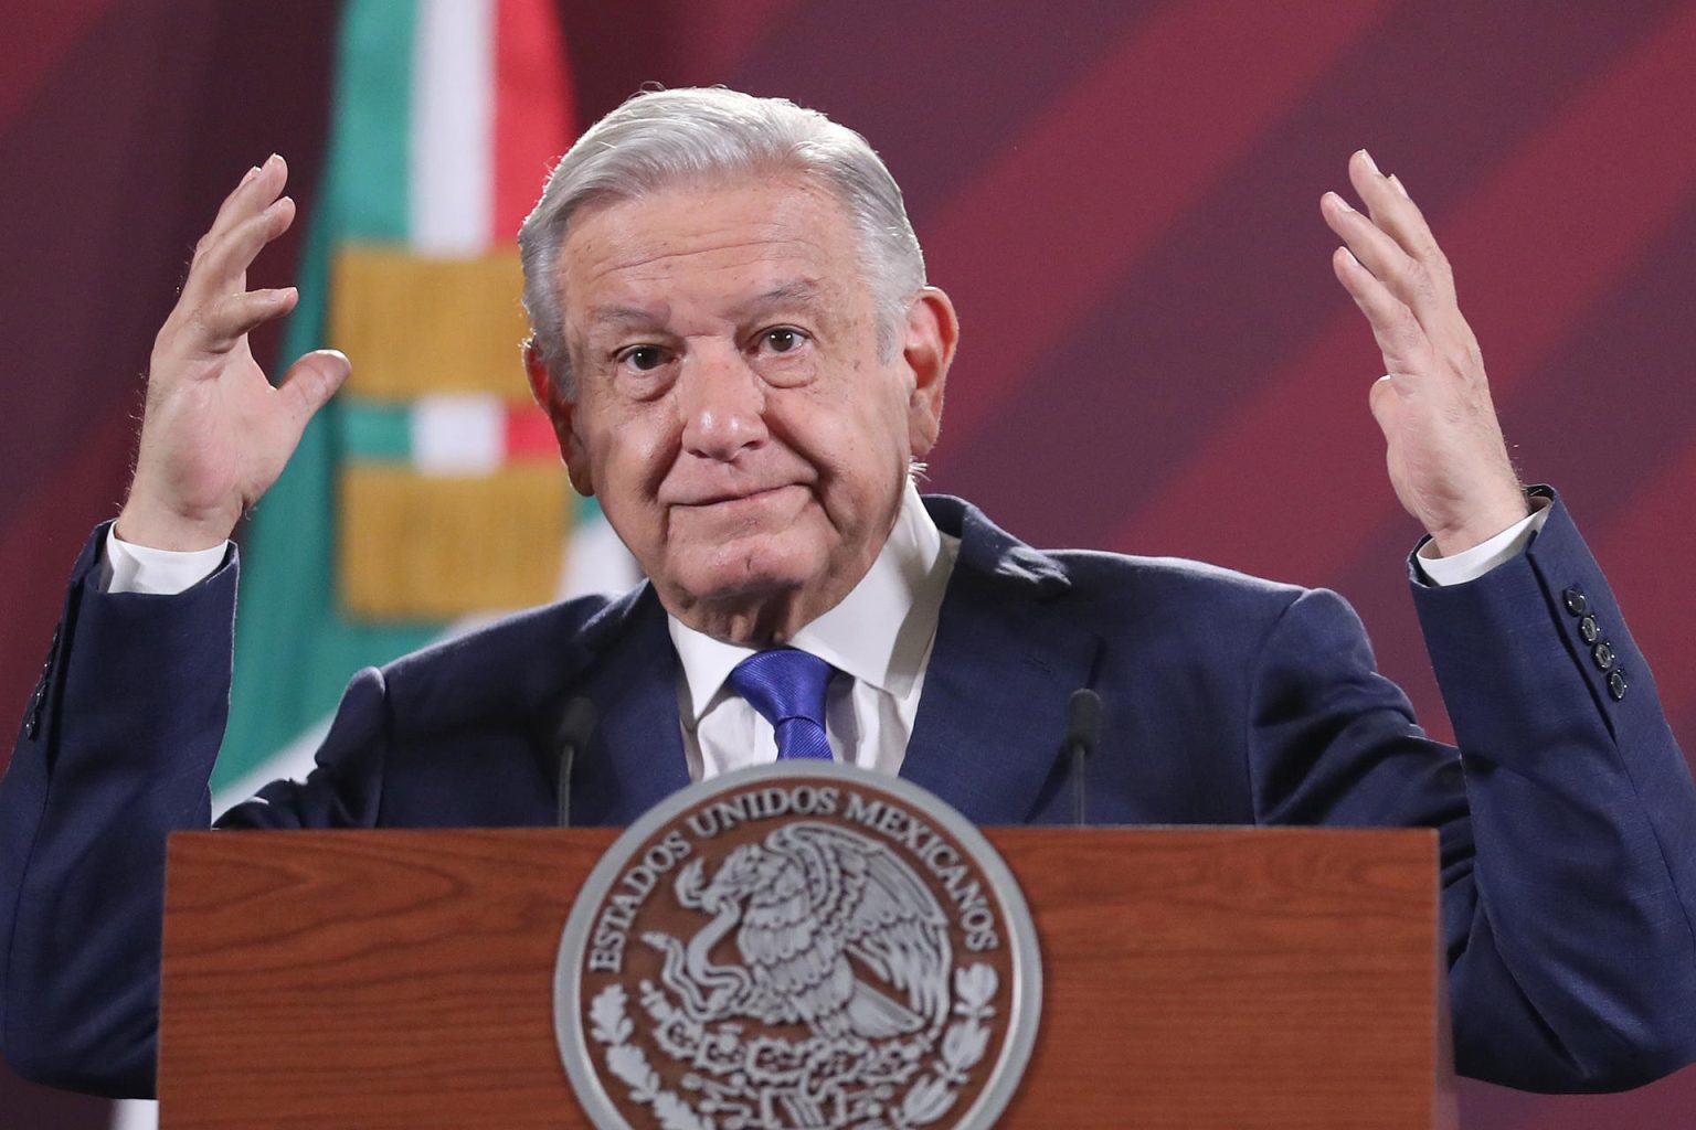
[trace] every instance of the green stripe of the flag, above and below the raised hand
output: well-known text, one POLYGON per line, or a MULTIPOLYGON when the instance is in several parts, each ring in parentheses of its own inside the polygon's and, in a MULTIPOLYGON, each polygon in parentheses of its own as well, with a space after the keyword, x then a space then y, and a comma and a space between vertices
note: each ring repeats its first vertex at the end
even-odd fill
MULTIPOLYGON (((283 364, 322 344, 331 249, 348 237, 405 239, 416 19, 410 0, 349 0, 343 10, 329 156, 283 364)), ((332 402, 307 427, 288 469, 243 532, 234 690, 214 789, 334 710, 351 673, 422 647, 443 627, 361 625, 341 617, 332 529, 338 412, 332 402)))

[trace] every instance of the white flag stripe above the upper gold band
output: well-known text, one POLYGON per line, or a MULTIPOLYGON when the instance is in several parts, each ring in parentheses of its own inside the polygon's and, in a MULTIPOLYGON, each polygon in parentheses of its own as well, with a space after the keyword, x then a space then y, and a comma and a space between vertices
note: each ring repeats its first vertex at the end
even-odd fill
POLYGON ((412 58, 417 251, 470 256, 494 225, 495 0, 421 0, 412 58))

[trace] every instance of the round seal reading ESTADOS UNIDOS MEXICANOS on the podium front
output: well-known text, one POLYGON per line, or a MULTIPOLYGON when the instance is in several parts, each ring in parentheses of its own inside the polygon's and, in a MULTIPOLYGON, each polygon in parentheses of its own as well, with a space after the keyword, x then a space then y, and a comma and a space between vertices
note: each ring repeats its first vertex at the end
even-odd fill
POLYGON ((685 789, 612 845, 565 927, 555 1030, 604 1130, 975 1128, 1040 1000, 1029 911, 963 817, 789 762, 685 789))

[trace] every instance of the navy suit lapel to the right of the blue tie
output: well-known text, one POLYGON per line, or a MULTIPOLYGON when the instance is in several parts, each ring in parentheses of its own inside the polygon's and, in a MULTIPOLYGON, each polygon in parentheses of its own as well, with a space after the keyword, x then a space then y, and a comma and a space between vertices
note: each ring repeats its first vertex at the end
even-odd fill
POLYGON ((1089 686, 1101 640, 1055 615, 1070 588, 1058 562, 965 503, 926 501, 938 525, 960 530, 960 557, 901 776, 975 823, 1023 823, 1060 756, 1067 700, 1089 686))

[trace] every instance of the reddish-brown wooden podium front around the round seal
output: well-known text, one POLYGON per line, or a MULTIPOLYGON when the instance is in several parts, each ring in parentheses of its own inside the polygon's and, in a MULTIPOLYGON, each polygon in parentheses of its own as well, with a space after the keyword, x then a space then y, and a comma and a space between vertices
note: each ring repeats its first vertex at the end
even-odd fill
MULTIPOLYGON (((1043 956, 1004 1127, 1453 1125, 1435 832, 989 828, 1043 956)), ((607 830, 171 837, 161 1120, 587 1127, 560 930, 607 830)))

